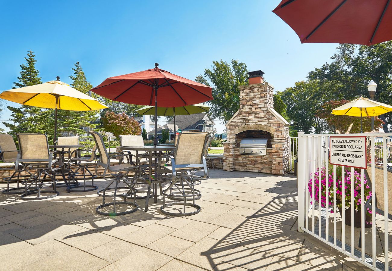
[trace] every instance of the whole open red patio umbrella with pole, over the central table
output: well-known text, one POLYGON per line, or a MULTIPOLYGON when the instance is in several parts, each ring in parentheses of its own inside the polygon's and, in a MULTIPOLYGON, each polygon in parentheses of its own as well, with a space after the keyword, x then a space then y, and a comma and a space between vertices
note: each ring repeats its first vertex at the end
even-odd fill
POLYGON ((134 105, 155 105, 156 137, 157 107, 181 107, 212 100, 211 87, 158 68, 109 77, 91 91, 113 101, 134 105))

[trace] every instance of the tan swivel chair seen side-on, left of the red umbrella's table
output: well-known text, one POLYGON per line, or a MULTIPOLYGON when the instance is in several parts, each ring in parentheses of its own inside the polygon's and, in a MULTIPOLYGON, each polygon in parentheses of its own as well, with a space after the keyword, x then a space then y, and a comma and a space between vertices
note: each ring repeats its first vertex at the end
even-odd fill
POLYGON ((123 152, 116 153, 108 153, 103 143, 102 136, 97 132, 89 132, 89 134, 93 135, 95 144, 98 148, 98 152, 100 154, 99 160, 96 166, 96 175, 98 175, 98 166, 102 166, 104 168, 103 179, 108 181, 109 184, 102 190, 98 191, 98 195, 102 197, 102 205, 96 208, 96 212, 100 215, 125 215, 129 213, 133 213, 138 210, 139 206, 136 204, 136 193, 138 190, 134 188, 136 185, 138 178, 140 177, 140 160, 136 155, 133 154, 125 154, 123 152), (135 158, 135 164, 131 164, 129 157, 135 158), (116 159, 119 158, 117 161, 116 159), (111 162, 116 161, 117 164, 111 165, 111 162), (127 161, 127 163, 124 163, 127 161), (134 173, 132 177, 129 176, 129 173, 134 173), (126 184, 126 187, 119 187, 119 183, 122 181, 126 184), (110 187, 111 184, 115 182, 115 187, 110 187), (120 192, 120 189, 125 189, 125 192, 120 192), (110 193, 113 192, 113 193, 110 193), (133 197, 133 202, 127 201, 127 199, 131 199, 133 197), (105 203, 105 198, 113 199, 113 202, 105 203), (118 198, 122 198, 123 201, 118 201, 118 198), (116 212, 116 205, 128 205, 133 206, 132 210, 116 212), (107 206, 113 206, 113 212, 110 211, 101 211, 100 209, 105 208, 107 206))

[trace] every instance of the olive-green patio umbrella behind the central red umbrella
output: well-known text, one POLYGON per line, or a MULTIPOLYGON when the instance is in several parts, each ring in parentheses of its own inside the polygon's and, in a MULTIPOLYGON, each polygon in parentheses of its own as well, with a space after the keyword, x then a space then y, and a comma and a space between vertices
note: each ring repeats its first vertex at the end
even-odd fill
MULTIPOLYGON (((173 116, 174 121, 174 138, 176 136, 176 115, 191 115, 196 113, 205 113, 210 110, 210 107, 198 103, 196 105, 185 105, 183 107, 158 107, 157 116, 173 116)), ((140 115, 155 115, 155 107, 147 105, 136 110, 140 115)))

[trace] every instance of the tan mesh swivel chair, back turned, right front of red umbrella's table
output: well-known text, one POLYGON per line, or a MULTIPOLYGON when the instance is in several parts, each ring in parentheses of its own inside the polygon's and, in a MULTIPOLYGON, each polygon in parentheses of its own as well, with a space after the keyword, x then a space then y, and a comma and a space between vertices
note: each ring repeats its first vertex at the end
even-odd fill
POLYGON ((171 175, 161 175, 161 166, 158 167, 158 175, 161 178, 168 178, 170 181, 169 187, 163 192, 163 205, 161 207, 162 213, 165 215, 173 216, 185 216, 195 215, 199 213, 201 208, 195 204, 195 198, 200 195, 200 191, 194 189, 192 184, 192 174, 189 174, 190 170, 200 169, 204 170, 204 176, 207 175, 207 163, 204 157, 204 148, 209 133, 206 132, 181 132, 178 136, 176 150, 174 156, 169 154, 161 154, 159 160, 162 161, 164 158, 171 160, 171 175), (165 199, 175 199, 182 202, 170 202, 166 203, 165 199), (192 200, 192 202, 187 202, 192 200), (165 211, 167 206, 183 206, 182 213, 175 213, 171 211, 165 211), (195 211, 186 212, 186 206, 192 206, 195 211))

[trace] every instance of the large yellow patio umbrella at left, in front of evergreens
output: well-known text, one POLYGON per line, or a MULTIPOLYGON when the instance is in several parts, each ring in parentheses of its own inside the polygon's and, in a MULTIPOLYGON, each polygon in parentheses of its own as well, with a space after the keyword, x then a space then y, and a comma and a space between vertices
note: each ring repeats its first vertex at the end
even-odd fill
POLYGON ((58 76, 54 81, 5 90, 0 94, 0 98, 22 105, 55 109, 54 141, 57 133, 57 109, 91 111, 107 108, 96 99, 60 81, 58 76))

